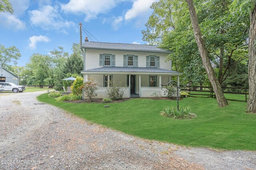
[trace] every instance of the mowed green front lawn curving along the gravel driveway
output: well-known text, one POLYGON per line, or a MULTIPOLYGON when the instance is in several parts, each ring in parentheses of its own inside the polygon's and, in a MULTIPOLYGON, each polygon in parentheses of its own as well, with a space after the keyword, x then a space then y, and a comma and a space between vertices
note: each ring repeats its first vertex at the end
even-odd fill
POLYGON ((165 106, 176 106, 175 100, 138 98, 107 104, 109 108, 104 108, 106 104, 57 102, 47 94, 38 96, 38 100, 145 139, 192 147, 256 150, 256 114, 245 112, 245 102, 229 101, 228 107, 219 108, 213 98, 184 98, 180 106, 190 107, 197 117, 176 120, 160 115, 165 106))

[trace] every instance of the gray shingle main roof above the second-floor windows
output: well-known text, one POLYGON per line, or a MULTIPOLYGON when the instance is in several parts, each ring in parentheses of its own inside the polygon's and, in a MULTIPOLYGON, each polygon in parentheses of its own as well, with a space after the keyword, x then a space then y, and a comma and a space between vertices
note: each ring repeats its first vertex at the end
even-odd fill
POLYGON ((93 41, 86 41, 81 48, 85 49, 106 49, 118 51, 142 51, 154 53, 170 53, 158 48, 158 45, 141 45, 141 44, 122 44, 122 43, 100 43, 93 41))

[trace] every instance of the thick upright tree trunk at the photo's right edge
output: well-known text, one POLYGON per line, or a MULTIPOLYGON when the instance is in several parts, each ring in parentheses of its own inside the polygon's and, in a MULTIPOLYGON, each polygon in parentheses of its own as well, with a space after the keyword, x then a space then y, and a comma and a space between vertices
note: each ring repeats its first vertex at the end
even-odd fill
POLYGON ((248 112, 256 113, 256 3, 254 9, 250 12, 250 30, 249 30, 249 97, 247 102, 248 112))

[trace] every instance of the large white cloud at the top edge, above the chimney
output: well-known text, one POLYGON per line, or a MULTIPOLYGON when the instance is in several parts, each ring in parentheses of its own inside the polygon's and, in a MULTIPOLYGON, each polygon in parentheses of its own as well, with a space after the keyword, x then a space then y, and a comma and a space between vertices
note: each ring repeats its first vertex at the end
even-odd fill
POLYGON ((124 0, 70 0, 67 4, 62 4, 64 12, 75 14, 85 14, 84 21, 97 18, 98 14, 104 14, 114 8, 118 2, 124 0))

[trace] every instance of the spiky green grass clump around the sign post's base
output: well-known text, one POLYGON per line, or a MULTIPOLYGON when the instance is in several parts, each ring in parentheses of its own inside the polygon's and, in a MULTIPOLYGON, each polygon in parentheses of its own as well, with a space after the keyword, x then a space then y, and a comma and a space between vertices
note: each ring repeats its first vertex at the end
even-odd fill
POLYGON ((173 117, 174 119, 191 119, 195 117, 188 107, 179 107, 179 110, 177 107, 165 107, 164 111, 161 111, 161 115, 164 117, 173 117))

